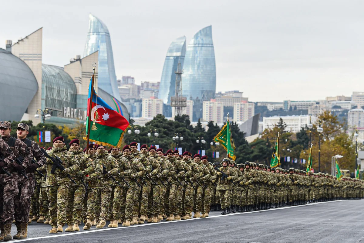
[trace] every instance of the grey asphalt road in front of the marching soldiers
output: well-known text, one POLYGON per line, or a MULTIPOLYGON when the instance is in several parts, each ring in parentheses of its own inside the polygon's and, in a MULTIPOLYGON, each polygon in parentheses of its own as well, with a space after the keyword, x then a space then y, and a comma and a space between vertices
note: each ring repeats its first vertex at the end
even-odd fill
POLYGON ((32 223, 28 239, 12 242, 364 243, 363 206, 364 200, 344 200, 229 215, 212 212, 205 219, 104 229, 93 226, 90 231, 80 226, 80 232, 55 235, 48 234, 49 225, 32 223))

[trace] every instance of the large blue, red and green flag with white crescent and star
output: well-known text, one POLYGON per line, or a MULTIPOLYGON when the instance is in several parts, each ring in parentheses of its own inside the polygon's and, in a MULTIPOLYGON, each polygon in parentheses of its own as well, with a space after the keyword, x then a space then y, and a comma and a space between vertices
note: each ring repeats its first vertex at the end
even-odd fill
MULTIPOLYGON (((90 141, 95 142, 96 144, 119 148, 124 137, 124 132, 129 126, 129 122, 120 114, 121 108, 119 102, 117 102, 118 105, 116 105, 116 109, 119 109, 119 111, 112 109, 98 96, 95 89, 91 90, 91 84, 92 78, 88 88, 86 135, 89 135, 90 141), (91 94, 92 102, 90 102, 91 94), (91 114, 89 114, 90 103, 91 114), (92 122, 92 124, 89 124, 90 122, 92 122), (89 125, 92 125, 90 134, 88 134, 87 131, 89 125)), ((114 102, 116 102, 116 100, 114 100, 114 102)), ((87 137, 84 137, 83 139, 87 140, 87 137)))

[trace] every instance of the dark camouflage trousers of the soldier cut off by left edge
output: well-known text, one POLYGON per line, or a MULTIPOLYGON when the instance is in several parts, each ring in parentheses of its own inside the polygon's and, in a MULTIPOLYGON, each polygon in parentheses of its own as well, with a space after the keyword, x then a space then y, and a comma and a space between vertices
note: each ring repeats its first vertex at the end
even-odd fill
POLYGON ((14 199, 18 195, 18 173, 0 174, 0 224, 11 224, 14 219, 14 199))

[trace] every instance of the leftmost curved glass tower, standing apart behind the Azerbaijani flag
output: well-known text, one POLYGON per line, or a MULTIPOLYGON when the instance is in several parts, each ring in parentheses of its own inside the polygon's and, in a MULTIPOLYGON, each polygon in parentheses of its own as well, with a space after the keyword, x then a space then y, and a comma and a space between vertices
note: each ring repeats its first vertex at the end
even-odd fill
POLYGON ((118 84, 116 82, 110 33, 106 25, 90 13, 87 41, 83 56, 88 56, 95 51, 99 51, 98 87, 111 94, 116 99, 121 100, 118 84))

